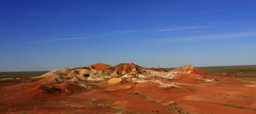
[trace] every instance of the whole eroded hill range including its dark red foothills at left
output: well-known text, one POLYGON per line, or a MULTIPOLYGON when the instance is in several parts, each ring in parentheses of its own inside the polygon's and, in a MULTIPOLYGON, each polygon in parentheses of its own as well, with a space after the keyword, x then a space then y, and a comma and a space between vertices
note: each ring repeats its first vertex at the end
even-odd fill
POLYGON ((116 66, 99 63, 73 69, 52 70, 44 75, 33 77, 42 78, 38 81, 12 87, 20 90, 32 87, 33 89, 28 92, 34 89, 40 90, 35 95, 42 95, 45 92, 76 94, 95 89, 131 89, 136 83, 155 85, 160 88, 181 88, 177 83, 209 83, 217 81, 213 79, 214 76, 191 65, 167 72, 161 68, 145 68, 133 63, 121 63, 116 66))

